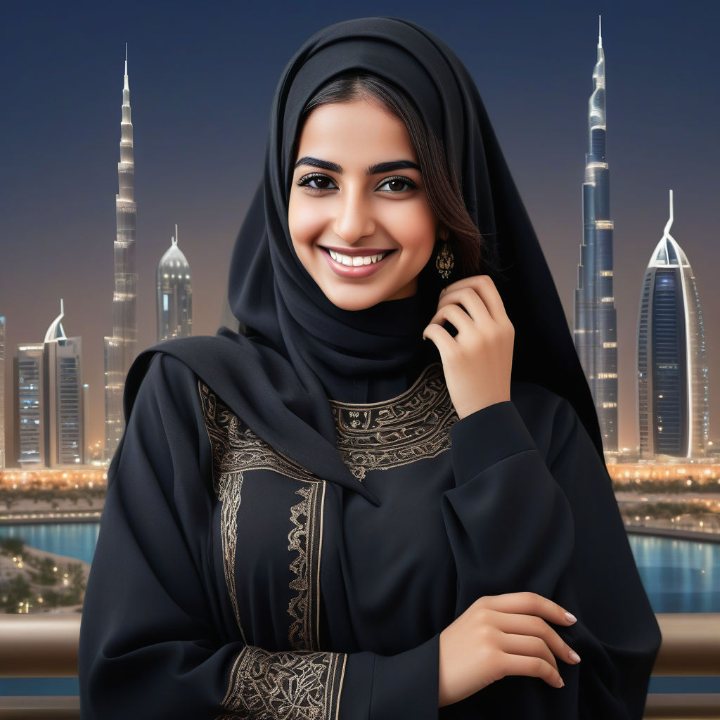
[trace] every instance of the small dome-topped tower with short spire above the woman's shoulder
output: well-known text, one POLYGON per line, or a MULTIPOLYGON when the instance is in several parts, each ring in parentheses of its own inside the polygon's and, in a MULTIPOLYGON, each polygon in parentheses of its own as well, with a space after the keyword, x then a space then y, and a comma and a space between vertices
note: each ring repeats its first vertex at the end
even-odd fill
POLYGON ((158 263, 158 342, 192 335, 190 266, 178 247, 178 226, 158 263))

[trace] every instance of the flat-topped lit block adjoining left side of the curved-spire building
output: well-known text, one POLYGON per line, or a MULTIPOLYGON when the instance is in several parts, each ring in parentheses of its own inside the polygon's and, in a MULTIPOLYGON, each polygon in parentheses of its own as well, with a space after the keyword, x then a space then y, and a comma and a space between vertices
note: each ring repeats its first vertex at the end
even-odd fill
POLYGON ((45 368, 42 343, 18 345, 13 362, 15 459, 45 467, 45 368))

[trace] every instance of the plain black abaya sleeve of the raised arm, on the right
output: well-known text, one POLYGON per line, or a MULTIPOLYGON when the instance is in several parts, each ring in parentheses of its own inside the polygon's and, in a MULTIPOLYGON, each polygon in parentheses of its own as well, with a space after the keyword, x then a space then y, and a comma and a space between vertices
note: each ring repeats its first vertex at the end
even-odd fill
POLYGON ((530 383, 514 383, 512 397, 449 431, 456 487, 442 503, 456 616, 482 595, 538 593, 578 618, 553 627, 581 662, 558 659, 564 688, 503 678, 447 717, 474 706, 487 718, 639 720, 660 631, 610 477, 567 400, 530 383))

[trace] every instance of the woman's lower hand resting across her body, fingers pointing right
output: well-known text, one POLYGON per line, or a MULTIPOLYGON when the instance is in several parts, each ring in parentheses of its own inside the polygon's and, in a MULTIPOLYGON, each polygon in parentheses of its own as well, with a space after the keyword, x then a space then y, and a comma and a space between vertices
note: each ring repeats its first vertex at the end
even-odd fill
POLYGON ((542 678, 562 688, 554 656, 573 665, 580 657, 546 621, 575 623, 565 612, 536 593, 475 600, 440 634, 438 707, 459 702, 505 675, 542 678))

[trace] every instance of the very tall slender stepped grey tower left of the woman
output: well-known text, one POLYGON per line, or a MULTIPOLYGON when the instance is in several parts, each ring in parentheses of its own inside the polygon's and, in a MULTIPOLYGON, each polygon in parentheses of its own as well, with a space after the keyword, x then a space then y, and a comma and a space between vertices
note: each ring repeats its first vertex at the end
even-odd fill
POLYGON ((119 192, 115 196, 117 232, 114 243, 112 336, 105 337, 105 456, 108 459, 117 449, 125 429, 125 420, 122 416, 122 391, 125 387, 127 371, 138 354, 138 275, 135 272, 137 206, 135 205, 135 164, 132 155, 132 122, 130 122, 130 87, 127 82, 127 44, 117 180, 119 192))

